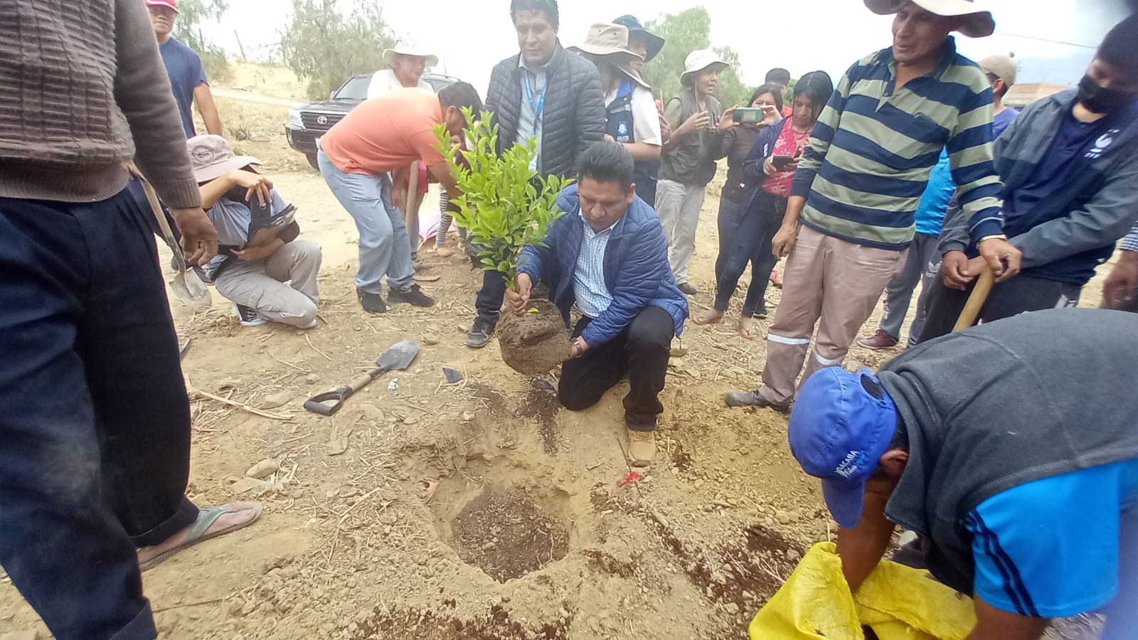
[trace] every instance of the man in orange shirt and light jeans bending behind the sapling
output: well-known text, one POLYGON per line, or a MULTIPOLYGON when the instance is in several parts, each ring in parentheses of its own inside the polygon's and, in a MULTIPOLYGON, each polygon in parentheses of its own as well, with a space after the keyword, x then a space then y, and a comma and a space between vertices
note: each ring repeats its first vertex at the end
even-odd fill
POLYGON ((397 89, 365 100, 320 139, 320 173, 360 231, 356 295, 369 313, 387 311, 380 282, 385 276, 390 288, 388 302, 435 304, 414 282, 411 239, 398 212, 405 205, 407 187, 399 177, 412 162, 422 161, 447 191, 460 194, 439 151, 435 126, 445 124, 452 136, 461 136, 467 125, 463 107, 475 113, 483 108, 478 92, 465 82, 446 87, 438 95, 397 89))

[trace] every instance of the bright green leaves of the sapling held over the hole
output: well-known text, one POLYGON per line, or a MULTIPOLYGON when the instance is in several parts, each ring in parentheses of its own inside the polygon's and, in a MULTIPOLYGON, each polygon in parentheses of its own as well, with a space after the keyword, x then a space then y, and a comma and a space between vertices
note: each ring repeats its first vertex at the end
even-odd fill
POLYGON ((558 194, 572 180, 537 178, 537 172, 529 169, 537 155, 536 138, 525 146, 513 145, 498 157, 498 126, 492 124, 492 114, 483 112, 476 120, 464 108, 462 115, 467 118, 469 149, 460 149, 443 124, 435 128, 443 157, 462 191, 462 196, 451 199, 459 208, 454 222, 483 247, 478 254, 483 269, 505 273, 506 286, 514 288, 521 251, 527 245, 544 246, 546 228, 563 213, 554 204, 558 194))

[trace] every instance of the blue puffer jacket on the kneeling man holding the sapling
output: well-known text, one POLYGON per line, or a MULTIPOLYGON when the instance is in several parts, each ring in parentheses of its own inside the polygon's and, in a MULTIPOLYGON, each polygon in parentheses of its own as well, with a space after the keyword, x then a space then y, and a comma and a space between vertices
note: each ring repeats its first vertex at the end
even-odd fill
MULTIPOLYGON (((577 302, 574 273, 585 221, 580 216, 577 186, 570 184, 558 196, 556 207, 564 212, 546 230, 542 244, 528 246, 518 259, 518 273, 529 274, 537 282, 543 276, 550 281, 550 300, 569 318, 577 302)), ((676 335, 684 330, 688 315, 687 298, 676 287, 668 264, 668 240, 655 211, 636 197, 612 228, 604 252, 604 284, 612 304, 582 333, 589 345, 604 344, 622 331, 645 306, 668 312, 676 323, 676 335)))

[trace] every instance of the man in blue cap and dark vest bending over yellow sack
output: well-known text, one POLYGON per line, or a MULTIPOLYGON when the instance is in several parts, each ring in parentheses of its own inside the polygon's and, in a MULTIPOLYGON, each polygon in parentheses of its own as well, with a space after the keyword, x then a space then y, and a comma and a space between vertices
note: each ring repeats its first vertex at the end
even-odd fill
POLYGON ((822 478, 850 590, 899 524, 935 580, 972 596, 970 640, 1037 640, 1088 612, 1106 614, 1103 640, 1132 639, 1136 359, 1131 315, 1047 310, 921 344, 876 377, 811 376, 790 448, 822 478))

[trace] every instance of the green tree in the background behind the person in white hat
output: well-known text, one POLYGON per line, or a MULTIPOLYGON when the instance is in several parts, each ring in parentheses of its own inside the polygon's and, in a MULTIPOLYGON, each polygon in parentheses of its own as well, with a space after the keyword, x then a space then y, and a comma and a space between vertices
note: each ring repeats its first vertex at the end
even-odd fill
MULTIPOLYGON (((695 7, 678 14, 665 14, 659 19, 649 20, 644 26, 650 32, 667 40, 663 50, 652 61, 644 65, 644 81, 652 85, 652 92, 665 101, 679 95, 679 74, 684 73, 684 59, 696 49, 711 46, 711 16, 707 9, 695 7)), ((715 49, 731 66, 719 74, 716 97, 724 108, 742 105, 751 97, 751 89, 739 77, 739 54, 729 47, 715 49)))

